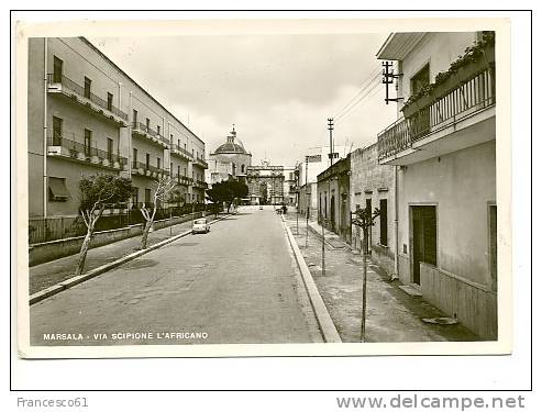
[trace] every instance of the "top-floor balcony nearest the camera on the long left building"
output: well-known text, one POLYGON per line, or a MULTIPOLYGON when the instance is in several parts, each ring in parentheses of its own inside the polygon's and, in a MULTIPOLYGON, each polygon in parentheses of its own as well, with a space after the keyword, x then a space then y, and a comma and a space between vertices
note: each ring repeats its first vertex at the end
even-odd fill
POLYGON ((75 102, 91 110, 93 113, 102 115, 119 126, 128 126, 128 114, 115 108, 107 100, 91 92, 85 92, 85 88, 66 76, 55 74, 47 75, 47 91, 49 93, 60 93, 67 96, 75 102))

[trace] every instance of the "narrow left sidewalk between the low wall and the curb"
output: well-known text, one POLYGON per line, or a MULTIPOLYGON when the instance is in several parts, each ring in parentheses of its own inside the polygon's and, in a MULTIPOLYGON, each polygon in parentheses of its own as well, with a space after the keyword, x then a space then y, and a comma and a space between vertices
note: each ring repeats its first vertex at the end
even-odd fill
MULTIPOLYGON (((213 216, 214 215, 209 215, 208 218, 211 218, 212 220, 213 216)), ((192 222, 188 221, 154 231, 148 234, 147 245, 152 246, 170 236, 178 235, 190 230, 192 222)), ((89 249, 84 272, 114 261, 132 252, 139 250, 140 247, 141 235, 114 242, 106 246, 89 249)), ((62 282, 63 280, 71 278, 74 276, 78 258, 79 254, 76 254, 31 267, 29 270, 30 294, 33 294, 53 285, 62 282)))

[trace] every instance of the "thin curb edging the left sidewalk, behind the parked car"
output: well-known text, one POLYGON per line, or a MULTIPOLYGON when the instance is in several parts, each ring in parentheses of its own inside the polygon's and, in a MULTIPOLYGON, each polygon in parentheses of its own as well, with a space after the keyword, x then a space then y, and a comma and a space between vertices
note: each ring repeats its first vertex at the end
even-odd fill
MULTIPOLYGON (((224 220, 231 215, 232 215, 232 213, 226 214, 225 216, 222 216, 222 218, 213 220, 212 222, 209 222, 209 224, 213 224, 213 223, 219 222, 221 220, 224 220)), ((37 302, 44 300, 44 299, 51 298, 54 294, 59 293, 63 290, 69 289, 76 285, 82 283, 84 281, 96 278, 97 276, 102 275, 102 274, 104 274, 111 269, 114 269, 115 267, 121 266, 121 265, 125 264, 126 261, 133 260, 136 257, 143 256, 150 252, 153 252, 157 248, 161 248, 162 246, 165 246, 165 245, 167 245, 172 242, 175 242, 181 237, 188 236, 191 232, 192 231, 190 230, 190 231, 179 233, 178 235, 175 235, 173 237, 166 238, 165 241, 162 241, 162 242, 158 242, 152 246, 148 246, 146 249, 137 250, 137 252, 131 253, 130 255, 122 256, 121 258, 119 258, 114 261, 99 266, 96 269, 87 271, 86 274, 66 279, 59 283, 56 283, 56 285, 48 287, 47 289, 40 290, 38 292, 35 292, 34 294, 30 296, 29 303, 32 305, 34 303, 37 303, 37 302)))

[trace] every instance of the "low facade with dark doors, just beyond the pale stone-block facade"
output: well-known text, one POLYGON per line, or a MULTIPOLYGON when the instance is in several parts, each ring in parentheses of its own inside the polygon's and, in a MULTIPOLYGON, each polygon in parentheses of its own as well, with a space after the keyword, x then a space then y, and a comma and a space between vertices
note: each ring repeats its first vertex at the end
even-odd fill
POLYGON ((352 242, 350 175, 351 155, 318 175, 317 185, 318 222, 349 244, 352 242))

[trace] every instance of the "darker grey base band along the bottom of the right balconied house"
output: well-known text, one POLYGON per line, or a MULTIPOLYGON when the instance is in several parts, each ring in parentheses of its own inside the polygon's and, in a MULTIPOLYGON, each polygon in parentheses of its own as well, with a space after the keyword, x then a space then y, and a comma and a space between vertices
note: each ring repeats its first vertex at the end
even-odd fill
POLYGON ((496 292, 424 263, 420 264, 420 283, 424 300, 483 338, 497 339, 496 292))

